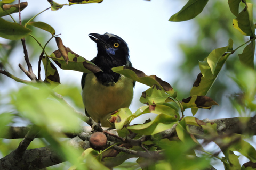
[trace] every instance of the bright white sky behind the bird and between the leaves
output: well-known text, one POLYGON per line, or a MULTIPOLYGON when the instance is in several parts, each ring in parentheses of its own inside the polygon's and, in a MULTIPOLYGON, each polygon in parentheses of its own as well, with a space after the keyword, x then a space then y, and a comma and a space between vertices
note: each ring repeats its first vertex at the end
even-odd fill
MULTIPOLYGON (((57 2, 68 3, 63 0, 57 2)), ((182 62, 179 41, 195 42, 193 35, 196 32, 196 25, 193 25, 193 20, 168 21, 170 16, 178 12, 185 3, 186 1, 167 0, 104 0, 100 4, 78 4, 63 6, 58 11, 47 10, 37 16, 34 21, 42 21, 51 25, 56 34, 61 33, 60 37, 66 47, 87 60, 91 60, 97 54, 96 44, 87 35, 89 33, 114 33, 128 44, 133 67, 145 72, 146 75, 155 74, 172 85, 174 79, 181 75, 178 69, 179 63, 182 62)), ((21 12, 21 17, 34 15, 48 7, 50 4, 46 0, 28 1, 28 7, 21 12)), ((17 17, 15 19, 18 21, 17 17)), ((4 39, 0 38, 0 43, 3 41, 4 39)), ((54 43, 53 39, 51 45, 57 49, 54 43)), ((18 53, 20 55, 20 51, 18 53)), ((23 62, 23 54, 13 61, 15 71, 21 72, 18 67, 21 62, 23 62)), ((34 72, 37 73, 37 63, 33 66, 34 72)), ((59 68, 58 71, 62 84, 81 83, 81 72, 63 71, 59 68)), ((199 67, 197 73, 199 73, 199 67)), ((43 77, 42 73, 41 75, 43 77)), ((28 80, 25 75, 23 78, 28 80)), ((9 84, 7 87, 13 89, 19 86, 11 79, 6 79, 6 84, 9 84)), ((187 86, 191 88, 192 84, 187 86)), ((148 86, 136 83, 130 107, 132 112, 140 107, 138 106, 140 95, 148 88, 148 86)), ((190 111, 186 112, 186 116, 190 115, 190 111)), ((207 116, 209 114, 206 114, 204 118, 207 116)), ((149 118, 148 115, 145 116, 145 119, 147 118, 149 118)))

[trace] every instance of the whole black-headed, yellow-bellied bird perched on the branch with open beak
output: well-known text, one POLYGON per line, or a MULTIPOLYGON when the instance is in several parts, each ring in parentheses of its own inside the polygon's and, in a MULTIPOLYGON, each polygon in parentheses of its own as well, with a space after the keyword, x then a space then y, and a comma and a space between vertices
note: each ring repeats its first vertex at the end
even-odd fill
POLYGON ((108 118, 119 108, 129 107, 135 81, 111 70, 117 66, 130 66, 129 49, 125 41, 113 34, 90 33, 97 44, 98 54, 91 62, 103 72, 83 74, 82 98, 87 116, 102 126, 110 126, 108 118))

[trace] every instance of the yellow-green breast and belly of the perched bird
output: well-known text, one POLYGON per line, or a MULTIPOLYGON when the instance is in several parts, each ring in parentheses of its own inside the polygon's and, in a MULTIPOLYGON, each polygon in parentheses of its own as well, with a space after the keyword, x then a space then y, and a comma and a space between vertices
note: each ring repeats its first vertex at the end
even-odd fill
POLYGON ((111 86, 104 86, 94 74, 87 74, 82 92, 87 113, 102 126, 109 126, 107 118, 119 108, 129 107, 133 98, 133 80, 121 75, 111 86))

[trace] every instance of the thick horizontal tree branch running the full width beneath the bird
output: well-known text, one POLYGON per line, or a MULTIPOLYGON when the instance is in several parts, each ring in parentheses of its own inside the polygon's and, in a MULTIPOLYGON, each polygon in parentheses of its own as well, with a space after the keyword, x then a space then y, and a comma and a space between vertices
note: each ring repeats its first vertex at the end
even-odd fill
MULTIPOLYGON (((221 119, 214 119, 214 120, 203 120, 205 123, 216 123, 217 124, 217 132, 219 134, 221 133, 237 133, 237 134, 250 134, 250 135, 256 135, 256 118, 255 117, 234 117, 234 118, 221 118, 221 119), (247 120, 247 123, 245 124, 245 121, 247 120)), ((172 128, 167 129, 163 132, 160 132, 158 135, 160 135, 161 138, 171 138, 177 136, 175 132, 176 125, 174 125, 172 128)), ((189 129, 191 133, 194 134, 204 134, 203 128, 200 128, 198 126, 189 125, 189 129)), ((102 128, 102 130, 105 132, 108 130, 108 128, 102 128)), ((27 127, 6 127, 5 132, 7 134, 0 133, 0 138, 5 139, 17 139, 17 138, 24 138, 27 132, 29 131, 29 128, 27 127)), ((84 126, 80 130, 70 133, 65 130, 65 128, 59 129, 57 132, 58 137, 69 137, 73 138, 75 136, 81 137, 83 139, 83 133, 91 133, 92 128, 90 126, 84 126)), ((108 130, 108 133, 117 135, 117 132, 115 129, 108 130)), ((36 138, 42 138, 44 137, 43 134, 38 133, 36 135, 36 138)), ((108 137, 110 138, 110 136, 108 137)), ((199 136, 197 136, 197 139, 200 139, 199 136)), ((85 139, 83 139, 85 140, 85 139)), ((116 139, 115 137, 111 138, 111 141, 125 141, 123 139, 116 139)), ((141 137, 137 140, 129 139, 128 141, 139 143, 141 140, 145 140, 144 137, 141 137)))

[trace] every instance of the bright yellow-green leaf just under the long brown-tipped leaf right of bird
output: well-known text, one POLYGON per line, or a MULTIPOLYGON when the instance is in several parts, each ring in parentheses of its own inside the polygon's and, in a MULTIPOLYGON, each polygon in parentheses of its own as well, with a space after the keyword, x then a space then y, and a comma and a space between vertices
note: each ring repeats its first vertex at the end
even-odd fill
POLYGON ((169 97, 170 95, 166 94, 162 88, 154 84, 148 90, 142 92, 140 102, 147 105, 154 105, 166 102, 166 100, 171 100, 169 97))

